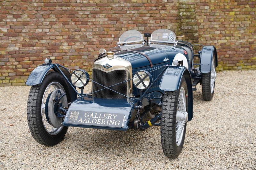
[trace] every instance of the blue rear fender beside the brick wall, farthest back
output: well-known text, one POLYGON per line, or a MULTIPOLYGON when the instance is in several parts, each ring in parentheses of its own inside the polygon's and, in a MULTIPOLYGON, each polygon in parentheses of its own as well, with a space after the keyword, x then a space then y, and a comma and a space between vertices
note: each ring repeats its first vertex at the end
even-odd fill
POLYGON ((204 46, 200 54, 200 67, 201 73, 209 73, 212 68, 212 57, 215 54, 215 66, 218 66, 217 52, 214 46, 204 46))

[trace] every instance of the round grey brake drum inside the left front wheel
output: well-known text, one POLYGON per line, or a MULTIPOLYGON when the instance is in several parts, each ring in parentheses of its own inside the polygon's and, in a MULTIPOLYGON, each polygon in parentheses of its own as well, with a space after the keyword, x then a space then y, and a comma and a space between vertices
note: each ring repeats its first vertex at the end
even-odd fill
MULTIPOLYGON (((47 108, 47 112, 45 112, 46 117, 48 117, 48 122, 54 127, 54 128, 60 128, 62 126, 63 118, 57 117, 55 112, 57 112, 57 103, 54 101, 54 99, 57 96, 57 91, 60 90, 61 94, 65 94, 65 92, 61 89, 55 89, 53 92, 50 93, 48 96, 48 99, 46 101, 45 108, 47 108)), ((61 96, 60 93, 58 93, 58 97, 61 96)), ((62 107, 68 107, 68 99, 67 95, 63 96, 60 99, 62 103, 62 107)))

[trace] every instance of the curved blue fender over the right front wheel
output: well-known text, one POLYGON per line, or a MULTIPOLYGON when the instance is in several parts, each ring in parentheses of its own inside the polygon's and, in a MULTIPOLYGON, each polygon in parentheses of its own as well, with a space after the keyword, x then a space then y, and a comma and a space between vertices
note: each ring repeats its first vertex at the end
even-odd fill
POLYGON ((193 92, 190 72, 186 67, 169 66, 162 77, 159 88, 164 91, 177 91, 181 78, 184 77, 188 86, 188 121, 193 118, 193 92))

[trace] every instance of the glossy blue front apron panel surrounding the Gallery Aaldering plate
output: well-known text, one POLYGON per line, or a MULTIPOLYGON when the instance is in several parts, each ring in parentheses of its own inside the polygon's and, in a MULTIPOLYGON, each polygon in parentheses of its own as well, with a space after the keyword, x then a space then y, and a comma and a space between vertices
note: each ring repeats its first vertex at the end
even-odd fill
POLYGON ((113 99, 100 99, 100 98, 90 98, 84 97, 83 99, 75 100, 68 108, 67 115, 65 116, 63 125, 64 126, 76 126, 84 128, 96 128, 96 129, 110 129, 110 130, 128 130, 128 123, 131 118, 131 112, 133 107, 137 104, 138 100, 113 100, 113 99), (89 125, 79 125, 79 124, 69 124, 67 120, 69 119, 70 110, 83 110, 88 112, 111 112, 114 114, 124 114, 126 122, 122 128, 104 127, 104 126, 89 126, 89 125))

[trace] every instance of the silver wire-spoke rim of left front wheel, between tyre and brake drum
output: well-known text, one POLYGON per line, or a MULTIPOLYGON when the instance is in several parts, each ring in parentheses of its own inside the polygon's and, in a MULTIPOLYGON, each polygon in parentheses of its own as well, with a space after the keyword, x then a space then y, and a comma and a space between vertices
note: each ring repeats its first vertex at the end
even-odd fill
POLYGON ((43 95, 43 99, 42 99, 42 111, 41 111, 41 114, 42 114, 42 121, 43 121, 43 124, 44 124, 44 129, 51 135, 56 135, 58 134, 61 129, 63 128, 63 126, 61 126, 60 128, 54 128, 47 120, 46 118, 46 114, 45 114, 45 105, 46 105, 46 100, 47 98, 49 97, 50 93, 53 92, 55 89, 61 89, 64 91, 64 88, 63 86, 58 83, 58 82, 52 82, 50 83, 45 91, 44 91, 44 95, 43 95))

